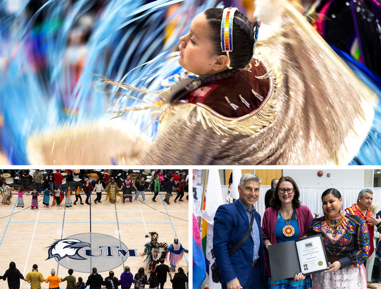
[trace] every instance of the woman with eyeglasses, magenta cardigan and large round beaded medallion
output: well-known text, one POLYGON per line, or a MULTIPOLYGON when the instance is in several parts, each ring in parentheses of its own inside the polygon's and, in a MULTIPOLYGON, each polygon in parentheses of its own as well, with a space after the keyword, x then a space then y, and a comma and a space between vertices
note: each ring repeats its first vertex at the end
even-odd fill
POLYGON ((280 242, 295 241, 307 236, 312 217, 308 207, 299 201, 299 188, 290 177, 281 177, 270 198, 270 207, 263 215, 262 233, 264 242, 265 279, 269 289, 305 289, 311 288, 311 278, 302 273, 289 279, 273 281, 271 279, 268 246, 280 242))

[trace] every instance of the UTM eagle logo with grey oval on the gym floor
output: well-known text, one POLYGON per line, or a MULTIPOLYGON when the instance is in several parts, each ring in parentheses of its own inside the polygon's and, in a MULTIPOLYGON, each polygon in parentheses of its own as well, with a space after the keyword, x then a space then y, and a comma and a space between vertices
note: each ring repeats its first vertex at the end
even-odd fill
POLYGON ((117 238, 99 233, 82 233, 54 240, 48 248, 48 258, 77 272, 90 273, 93 267, 102 271, 122 265, 128 257, 138 257, 138 249, 127 249, 117 238))

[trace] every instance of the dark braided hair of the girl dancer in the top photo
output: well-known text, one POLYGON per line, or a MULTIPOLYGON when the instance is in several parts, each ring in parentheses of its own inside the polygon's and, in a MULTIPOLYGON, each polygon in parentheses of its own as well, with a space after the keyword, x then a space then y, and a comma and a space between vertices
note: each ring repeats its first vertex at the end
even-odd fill
MULTIPOLYGON (((204 11, 211 31, 213 52, 217 55, 226 55, 226 52, 222 52, 221 48, 221 20, 223 11, 222 8, 209 8, 204 11)), ((230 66, 233 68, 226 69, 208 78, 182 80, 171 91, 170 102, 174 103, 182 100, 189 92, 205 86, 208 83, 232 77, 238 74, 241 69, 245 68, 253 58, 255 42, 253 29, 253 25, 248 21, 246 16, 236 11, 233 19, 233 51, 229 52, 230 66)))

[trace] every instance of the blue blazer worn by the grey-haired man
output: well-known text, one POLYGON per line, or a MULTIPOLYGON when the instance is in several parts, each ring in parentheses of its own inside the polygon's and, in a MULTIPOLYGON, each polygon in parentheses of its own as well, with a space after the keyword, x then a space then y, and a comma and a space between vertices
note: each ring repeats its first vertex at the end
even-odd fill
MULTIPOLYGON (((264 251, 261 228, 261 215, 254 211, 255 221, 259 229, 261 244, 259 247, 259 266, 261 269, 261 280, 264 282, 264 251)), ((255 222, 254 221, 254 222, 255 222)), ((246 242, 229 257, 229 250, 245 236, 250 222, 247 212, 239 202, 225 204, 218 207, 213 226, 213 252, 221 273, 221 283, 227 283, 238 278, 241 286, 245 286, 250 275, 253 264, 254 240, 250 236, 246 242)))

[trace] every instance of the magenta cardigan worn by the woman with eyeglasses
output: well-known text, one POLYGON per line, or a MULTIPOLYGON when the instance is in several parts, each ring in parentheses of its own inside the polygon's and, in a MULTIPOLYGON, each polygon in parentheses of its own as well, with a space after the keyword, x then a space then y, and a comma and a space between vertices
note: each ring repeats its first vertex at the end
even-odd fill
MULTIPOLYGON (((298 219, 299 225, 299 236, 298 239, 303 238, 308 233, 308 227, 314 220, 312 217, 311 211, 307 206, 301 205, 299 208, 296 208, 296 218, 298 219)), ((277 243, 277 238, 275 237, 275 225, 277 224, 279 210, 276 210, 272 207, 269 207, 264 211, 263 221, 262 221, 262 234, 263 242, 269 240, 271 244, 277 243)), ((264 263, 266 267, 267 275, 271 278, 270 270, 270 260, 269 252, 264 247, 264 263)))

